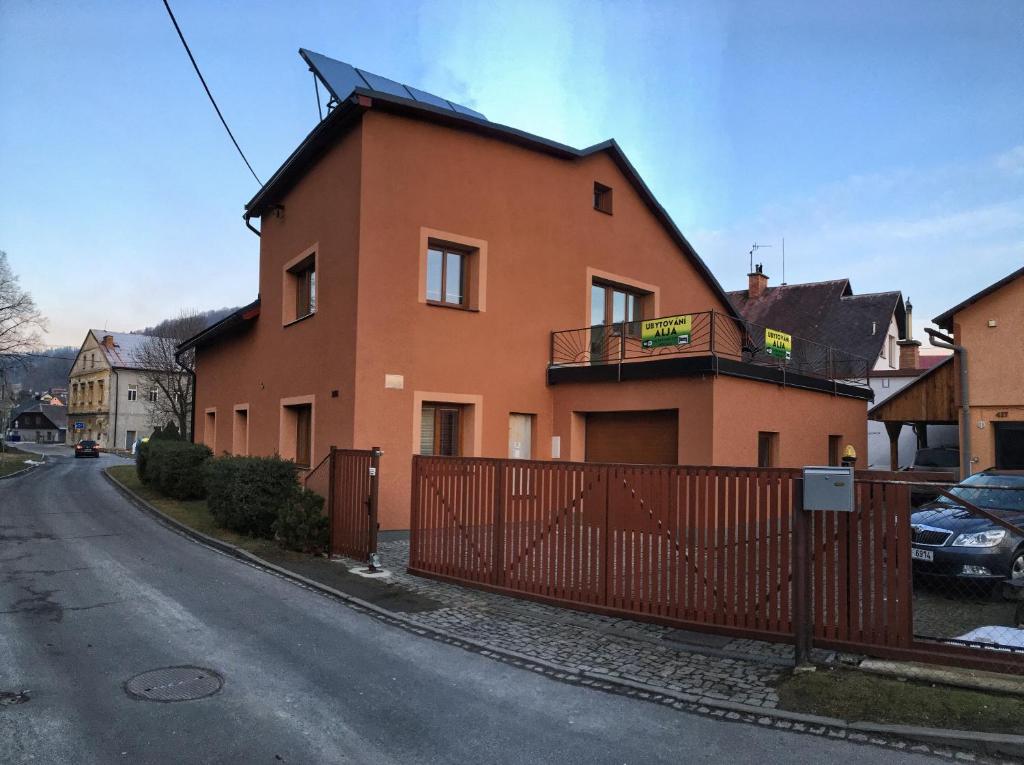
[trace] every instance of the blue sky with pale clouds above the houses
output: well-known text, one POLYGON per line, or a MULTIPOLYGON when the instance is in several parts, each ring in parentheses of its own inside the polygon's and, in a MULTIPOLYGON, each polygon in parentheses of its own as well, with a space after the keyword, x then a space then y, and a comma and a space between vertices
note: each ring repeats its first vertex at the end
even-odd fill
MULTIPOLYGON (((726 289, 902 290, 920 328, 1024 264, 1024 2, 172 7, 263 179, 307 47, 577 146, 614 137, 726 289)), ((0 249, 47 342, 256 293, 256 190, 160 0, 0 0, 0 249)), ((681 306, 682 307, 682 306, 681 306)))

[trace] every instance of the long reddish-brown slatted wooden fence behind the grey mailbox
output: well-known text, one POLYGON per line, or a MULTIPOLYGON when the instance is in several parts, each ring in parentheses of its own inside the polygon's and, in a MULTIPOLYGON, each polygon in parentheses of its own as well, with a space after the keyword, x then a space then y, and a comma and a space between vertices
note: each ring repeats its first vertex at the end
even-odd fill
POLYGON ((906 483, 858 472, 855 512, 803 512, 800 475, 414 457, 410 570, 739 637, 992 664, 914 640, 906 483))

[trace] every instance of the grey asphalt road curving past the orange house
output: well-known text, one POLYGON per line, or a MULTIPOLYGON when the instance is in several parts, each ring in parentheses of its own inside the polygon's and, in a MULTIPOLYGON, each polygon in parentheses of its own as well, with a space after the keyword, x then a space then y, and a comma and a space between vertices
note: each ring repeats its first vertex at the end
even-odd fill
POLYGON ((763 730, 554 682, 349 610, 197 545, 102 478, 0 481, 0 762, 829 763, 923 758, 763 730), (135 700, 199 665, 223 690, 135 700))

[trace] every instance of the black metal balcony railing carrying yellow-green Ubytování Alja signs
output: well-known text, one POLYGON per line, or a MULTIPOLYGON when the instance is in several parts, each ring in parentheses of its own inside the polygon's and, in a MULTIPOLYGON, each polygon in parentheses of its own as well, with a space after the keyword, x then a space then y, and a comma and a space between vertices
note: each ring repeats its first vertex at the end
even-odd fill
POLYGON ((786 374, 805 375, 853 385, 867 385, 870 362, 830 345, 794 335, 787 348, 772 347, 769 328, 718 311, 700 311, 685 324, 666 320, 667 336, 645 338, 645 322, 621 322, 551 333, 551 367, 586 367, 651 362, 679 356, 712 356, 772 367, 786 374), (676 330, 680 334, 673 335, 676 330), (682 339, 680 339, 682 337, 682 339), (660 343, 660 344, 659 344, 660 343))

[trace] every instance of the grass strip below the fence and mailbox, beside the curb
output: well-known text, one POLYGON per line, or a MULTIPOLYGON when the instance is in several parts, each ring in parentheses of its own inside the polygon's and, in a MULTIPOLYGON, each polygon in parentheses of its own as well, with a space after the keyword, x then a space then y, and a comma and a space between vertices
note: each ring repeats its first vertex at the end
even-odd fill
POLYGON ((1024 733, 1024 698, 1017 696, 842 669, 793 675, 777 690, 781 709, 793 712, 856 722, 1024 733))

